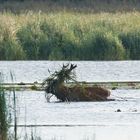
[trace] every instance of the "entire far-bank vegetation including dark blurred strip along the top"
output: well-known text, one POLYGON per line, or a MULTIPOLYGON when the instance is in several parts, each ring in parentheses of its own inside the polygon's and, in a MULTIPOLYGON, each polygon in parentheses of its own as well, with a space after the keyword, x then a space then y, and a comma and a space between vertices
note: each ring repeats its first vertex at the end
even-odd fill
POLYGON ((138 0, 7 0, 0 11, 0 60, 140 60, 138 0))

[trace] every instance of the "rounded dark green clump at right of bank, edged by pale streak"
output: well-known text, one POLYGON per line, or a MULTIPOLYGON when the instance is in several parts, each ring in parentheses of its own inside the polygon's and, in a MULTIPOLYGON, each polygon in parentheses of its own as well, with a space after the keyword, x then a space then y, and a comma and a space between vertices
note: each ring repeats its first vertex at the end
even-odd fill
MULTIPOLYGON (((124 59, 124 48, 121 41, 111 32, 94 33, 88 46, 89 59, 93 60, 122 60, 124 59), (92 52, 91 52, 92 51, 92 52), (90 53, 91 52, 91 53, 90 53)), ((86 48, 85 48, 86 51, 86 48)))

